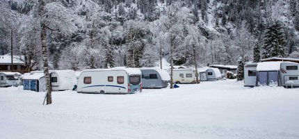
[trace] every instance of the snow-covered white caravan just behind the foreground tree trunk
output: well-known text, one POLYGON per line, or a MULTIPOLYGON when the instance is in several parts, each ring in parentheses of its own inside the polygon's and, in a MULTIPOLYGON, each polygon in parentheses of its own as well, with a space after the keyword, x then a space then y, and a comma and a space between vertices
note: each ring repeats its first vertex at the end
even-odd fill
MULTIPOLYGON (((43 71, 33 71, 34 73, 44 73, 43 71)), ((76 85, 76 75, 73 70, 49 70, 51 88, 53 91, 72 90, 76 85)))

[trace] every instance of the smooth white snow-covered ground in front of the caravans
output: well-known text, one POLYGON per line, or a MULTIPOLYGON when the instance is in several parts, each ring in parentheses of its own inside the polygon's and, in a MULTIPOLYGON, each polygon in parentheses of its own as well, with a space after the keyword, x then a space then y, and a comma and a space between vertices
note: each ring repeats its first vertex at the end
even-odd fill
POLYGON ((134 95, 0 88, 0 138, 299 138, 299 89, 235 80, 134 95))

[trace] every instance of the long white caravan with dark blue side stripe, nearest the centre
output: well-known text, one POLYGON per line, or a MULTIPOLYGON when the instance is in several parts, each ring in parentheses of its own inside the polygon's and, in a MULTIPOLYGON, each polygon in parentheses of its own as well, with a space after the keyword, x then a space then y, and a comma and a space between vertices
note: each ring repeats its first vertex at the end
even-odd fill
POLYGON ((79 93, 132 94, 141 92, 141 71, 131 68, 83 70, 79 76, 79 93))

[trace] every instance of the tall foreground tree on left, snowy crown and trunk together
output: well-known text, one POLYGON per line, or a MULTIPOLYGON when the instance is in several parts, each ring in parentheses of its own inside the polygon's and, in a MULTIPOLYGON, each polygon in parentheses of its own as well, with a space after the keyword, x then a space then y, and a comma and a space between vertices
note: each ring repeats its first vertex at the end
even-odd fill
POLYGON ((22 24, 26 26, 24 32, 38 31, 39 40, 42 49, 43 69, 46 79, 47 104, 51 104, 51 85, 48 65, 48 47, 47 47, 47 33, 54 31, 63 33, 65 35, 74 31, 74 24, 72 24, 72 15, 70 10, 65 8, 59 2, 48 2, 45 0, 36 1, 32 8, 29 17, 22 24))

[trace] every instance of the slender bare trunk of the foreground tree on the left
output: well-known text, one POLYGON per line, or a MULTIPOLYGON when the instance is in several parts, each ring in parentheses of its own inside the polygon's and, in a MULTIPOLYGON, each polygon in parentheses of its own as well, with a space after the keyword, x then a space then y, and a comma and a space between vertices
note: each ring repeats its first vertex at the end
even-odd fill
MULTIPOLYGON (((45 0, 39 0, 40 2, 40 16, 43 18, 45 13, 45 0)), ((47 105, 52 104, 52 95, 51 95, 51 83, 50 83, 50 74, 48 66, 48 51, 47 51, 47 42, 46 42, 46 33, 47 25, 45 22, 40 23, 40 40, 42 42, 42 60, 44 61, 44 74, 46 80, 46 91, 47 91, 47 105)))

